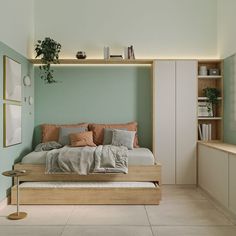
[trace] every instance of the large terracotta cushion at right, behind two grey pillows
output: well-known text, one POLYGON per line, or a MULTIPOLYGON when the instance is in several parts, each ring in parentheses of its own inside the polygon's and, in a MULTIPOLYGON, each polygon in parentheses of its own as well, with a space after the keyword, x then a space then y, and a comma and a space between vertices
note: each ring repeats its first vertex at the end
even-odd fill
POLYGON ((137 122, 130 122, 126 124, 89 124, 89 130, 93 131, 93 141, 96 145, 103 144, 104 128, 126 129, 127 131, 136 131, 136 135, 134 138, 134 147, 135 148, 139 147, 138 135, 137 135, 137 129, 138 129, 137 122))

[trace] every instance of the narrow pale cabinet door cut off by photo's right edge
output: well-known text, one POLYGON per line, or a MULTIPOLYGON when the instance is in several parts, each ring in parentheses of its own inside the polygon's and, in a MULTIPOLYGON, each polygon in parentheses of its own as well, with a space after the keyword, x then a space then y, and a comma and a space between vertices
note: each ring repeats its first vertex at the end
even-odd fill
POLYGON ((229 154, 229 209, 236 215, 236 155, 229 154))

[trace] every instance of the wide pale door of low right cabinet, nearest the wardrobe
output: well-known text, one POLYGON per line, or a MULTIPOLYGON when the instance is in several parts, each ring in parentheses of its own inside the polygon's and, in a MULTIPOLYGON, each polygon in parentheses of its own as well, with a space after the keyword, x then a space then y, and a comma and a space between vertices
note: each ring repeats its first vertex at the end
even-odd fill
POLYGON ((198 145, 198 184, 228 207, 228 153, 198 145))

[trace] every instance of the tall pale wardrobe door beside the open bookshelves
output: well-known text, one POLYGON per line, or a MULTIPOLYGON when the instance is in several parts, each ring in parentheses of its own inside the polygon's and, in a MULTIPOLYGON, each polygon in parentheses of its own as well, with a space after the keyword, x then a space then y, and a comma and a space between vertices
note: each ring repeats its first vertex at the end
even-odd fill
POLYGON ((196 184, 197 61, 176 61, 176 183, 196 184))

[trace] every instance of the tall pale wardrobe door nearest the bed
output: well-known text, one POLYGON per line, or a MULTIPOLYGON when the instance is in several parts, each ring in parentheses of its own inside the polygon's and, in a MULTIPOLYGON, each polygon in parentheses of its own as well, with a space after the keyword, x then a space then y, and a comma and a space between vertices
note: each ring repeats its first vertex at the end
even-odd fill
POLYGON ((154 155, 162 183, 175 184, 175 61, 154 62, 154 155))

